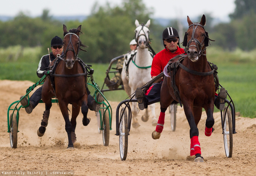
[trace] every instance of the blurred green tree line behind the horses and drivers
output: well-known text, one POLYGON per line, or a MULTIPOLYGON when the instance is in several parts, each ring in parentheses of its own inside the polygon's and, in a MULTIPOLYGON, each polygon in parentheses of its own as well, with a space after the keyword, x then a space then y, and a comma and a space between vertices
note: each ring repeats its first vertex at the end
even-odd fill
MULTIPOLYGON (((215 42, 212 46, 223 49, 253 50, 256 48, 256 1, 236 0, 236 9, 230 14, 229 23, 220 23, 212 26, 212 17, 206 15, 209 37, 215 42)), ((47 54, 50 48, 51 39, 58 35, 63 38, 62 25, 68 29, 77 28, 82 25, 80 39, 87 45, 88 52, 79 52, 79 57, 84 61, 95 63, 108 63, 112 58, 126 53, 130 41, 135 35, 135 20, 139 23, 146 23, 151 19, 150 38, 151 46, 155 52, 163 49, 162 31, 172 26, 176 29, 187 30, 187 26, 181 26, 178 20, 170 20, 168 26, 161 26, 157 21, 150 18, 152 9, 147 9, 142 0, 122 0, 120 6, 110 7, 109 4, 94 5, 91 15, 82 22, 59 21, 49 15, 49 10, 43 10, 39 17, 29 17, 23 12, 9 21, 0 21, 0 47, 21 45, 22 47, 42 47, 42 55, 47 54)), ((202 15, 199 17, 199 22, 202 15)), ((183 33, 180 33, 181 42, 183 33)), ((180 42, 180 43, 181 43, 180 42)), ((40 59, 40 58, 38 58, 40 59)))

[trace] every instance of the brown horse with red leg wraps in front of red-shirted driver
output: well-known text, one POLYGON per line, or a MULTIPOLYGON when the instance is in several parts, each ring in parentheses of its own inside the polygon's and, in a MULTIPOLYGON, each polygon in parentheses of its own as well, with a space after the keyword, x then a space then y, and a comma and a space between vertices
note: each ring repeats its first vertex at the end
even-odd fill
MULTIPOLYGON (((191 150, 190 155, 196 155, 195 162, 203 162, 201 157, 201 147, 198 140, 199 131, 197 125, 201 119, 202 108, 205 109, 207 119, 205 123, 205 135, 210 136, 214 125, 213 110, 215 83, 213 70, 206 59, 206 47, 209 38, 204 29, 206 22, 205 16, 200 23, 192 23, 187 17, 189 28, 185 33, 183 46, 187 51, 181 60, 172 59, 171 63, 179 62, 179 69, 175 69, 165 74, 161 87, 160 116, 158 121, 159 129, 162 130, 164 123, 164 112, 170 104, 182 103, 187 121, 190 126, 191 150)), ((160 138, 158 128, 152 133, 153 139, 160 138)))

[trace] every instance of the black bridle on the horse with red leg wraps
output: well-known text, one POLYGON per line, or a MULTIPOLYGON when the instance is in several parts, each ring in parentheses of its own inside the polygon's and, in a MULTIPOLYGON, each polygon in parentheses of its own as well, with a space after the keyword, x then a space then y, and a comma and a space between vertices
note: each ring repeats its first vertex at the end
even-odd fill
MULTIPOLYGON (((201 25, 201 24, 199 24, 199 23, 193 23, 193 24, 189 25, 188 29, 189 29, 191 26, 193 26, 192 36, 191 36, 191 39, 187 42, 187 46, 185 46, 185 52, 188 51, 190 47, 196 47, 197 50, 199 51, 199 53, 198 53, 199 57, 200 57, 201 55, 206 56, 206 54, 203 54, 203 52, 206 50, 206 47, 204 47, 204 41, 205 41, 205 38, 207 37, 207 36, 206 36, 206 31, 205 31, 203 25, 201 25), (195 26, 196 26, 196 27, 195 27, 195 26), (200 41, 199 41, 198 39, 194 38, 194 37, 195 37, 195 31, 196 31, 196 29, 197 29, 198 26, 201 26, 201 27, 203 28, 204 32, 205 32, 205 33, 204 33, 204 37, 203 37, 203 41, 202 41, 201 43, 200 43, 200 41), (190 45, 191 42, 195 42, 196 45, 190 45), (202 49, 203 47, 204 47, 204 49, 202 49)), ((187 32, 186 32, 186 35, 187 35, 187 32)), ((207 37, 207 38, 208 38, 208 37, 207 37)), ((208 38, 208 39, 209 39, 209 38, 208 38)))

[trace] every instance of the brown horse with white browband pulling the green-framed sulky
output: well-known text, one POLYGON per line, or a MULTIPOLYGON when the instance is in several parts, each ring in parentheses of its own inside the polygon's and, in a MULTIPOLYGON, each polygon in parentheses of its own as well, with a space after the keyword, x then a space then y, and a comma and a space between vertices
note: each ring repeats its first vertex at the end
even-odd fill
MULTIPOLYGON (((63 31, 64 56, 63 58, 59 57, 61 60, 56 66, 55 74, 53 74, 54 86, 52 86, 52 81, 48 77, 43 84, 42 100, 45 103, 45 111, 41 127, 39 127, 37 134, 38 136, 44 135, 48 124, 50 108, 52 107, 51 100, 53 96, 56 96, 65 120, 65 129, 68 133, 68 148, 74 148, 73 143, 76 141, 76 117, 80 112, 80 108, 83 114, 83 125, 87 126, 91 120, 87 118, 87 75, 77 61, 78 52, 81 49, 80 46, 84 47, 85 45, 83 45, 79 39, 81 25, 77 29, 70 29, 69 32, 67 31, 67 27, 63 25, 63 31), (55 87, 55 89, 53 87, 55 87), (71 120, 69 120, 68 104, 72 104, 71 120)), ((53 62, 50 66, 51 65, 53 65, 53 62)))

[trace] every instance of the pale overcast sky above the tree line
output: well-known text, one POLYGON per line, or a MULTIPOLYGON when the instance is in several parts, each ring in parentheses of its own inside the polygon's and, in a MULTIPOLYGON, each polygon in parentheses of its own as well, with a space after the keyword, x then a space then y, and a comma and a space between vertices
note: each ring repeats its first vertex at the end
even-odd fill
MULTIPOLYGON (((0 15, 16 16, 23 11, 34 17, 40 16, 44 9, 54 16, 89 15, 94 3, 109 2, 120 5, 122 0, 2 0, 0 15)), ((154 9, 153 18, 198 17, 210 13, 212 17, 227 20, 228 14, 235 10, 235 0, 143 0, 147 8, 154 9)))

